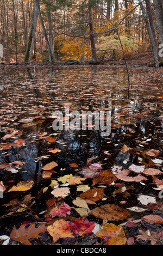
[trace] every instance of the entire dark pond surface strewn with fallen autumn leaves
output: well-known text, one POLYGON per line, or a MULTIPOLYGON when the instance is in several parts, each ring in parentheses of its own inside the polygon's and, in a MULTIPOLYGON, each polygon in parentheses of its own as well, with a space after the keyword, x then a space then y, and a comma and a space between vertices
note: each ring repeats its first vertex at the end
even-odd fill
POLYGON ((1 243, 162 244, 155 69, 131 70, 130 100, 123 68, 4 66, 0 76, 1 243), (108 111, 110 135, 89 121, 86 130, 54 131, 54 112, 65 107, 80 117, 108 111))

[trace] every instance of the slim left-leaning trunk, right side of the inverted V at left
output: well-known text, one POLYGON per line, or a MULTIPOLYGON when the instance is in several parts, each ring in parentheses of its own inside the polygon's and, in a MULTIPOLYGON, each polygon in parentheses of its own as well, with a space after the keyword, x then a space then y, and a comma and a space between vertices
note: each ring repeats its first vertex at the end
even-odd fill
POLYGON ((42 16, 41 16, 41 11, 40 11, 40 7, 39 7, 39 0, 35 0, 35 2, 36 2, 37 12, 38 12, 40 22, 41 22, 41 26, 42 26, 43 35, 45 36, 46 45, 47 45, 47 48, 48 48, 49 62, 54 63, 54 58, 53 58, 51 46, 49 44, 48 36, 47 36, 47 33, 46 33, 46 28, 45 28, 45 25, 43 23, 42 16))

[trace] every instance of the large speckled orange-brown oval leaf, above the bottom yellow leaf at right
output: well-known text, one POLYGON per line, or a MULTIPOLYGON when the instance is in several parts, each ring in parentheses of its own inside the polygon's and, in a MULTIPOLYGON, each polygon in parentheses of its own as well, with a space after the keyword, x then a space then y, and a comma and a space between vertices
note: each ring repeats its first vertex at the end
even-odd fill
POLYGON ((130 212, 115 204, 105 204, 93 209, 91 215, 107 221, 121 221, 130 216, 130 212))

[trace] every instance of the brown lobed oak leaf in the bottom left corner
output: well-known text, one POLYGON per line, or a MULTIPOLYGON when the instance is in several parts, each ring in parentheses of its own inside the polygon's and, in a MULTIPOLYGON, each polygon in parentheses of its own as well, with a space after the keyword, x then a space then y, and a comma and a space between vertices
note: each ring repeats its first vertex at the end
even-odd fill
POLYGON ((14 226, 10 234, 10 239, 22 242, 24 245, 32 245, 29 239, 41 237, 39 234, 46 230, 47 227, 45 227, 45 224, 41 224, 38 228, 35 228, 35 223, 30 224, 28 228, 22 224, 18 229, 14 226))

